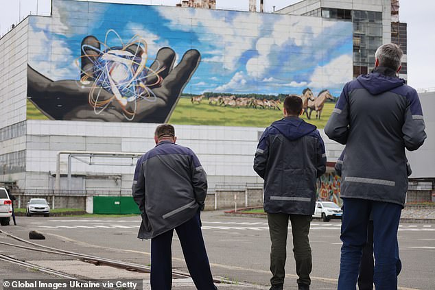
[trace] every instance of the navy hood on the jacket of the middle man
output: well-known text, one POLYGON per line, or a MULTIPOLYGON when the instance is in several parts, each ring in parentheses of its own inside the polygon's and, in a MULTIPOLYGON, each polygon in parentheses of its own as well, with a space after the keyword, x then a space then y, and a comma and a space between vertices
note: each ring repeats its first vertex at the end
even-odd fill
POLYGON ((315 125, 306 123, 298 117, 285 117, 279 121, 274 121, 271 126, 290 141, 302 138, 317 129, 315 125))

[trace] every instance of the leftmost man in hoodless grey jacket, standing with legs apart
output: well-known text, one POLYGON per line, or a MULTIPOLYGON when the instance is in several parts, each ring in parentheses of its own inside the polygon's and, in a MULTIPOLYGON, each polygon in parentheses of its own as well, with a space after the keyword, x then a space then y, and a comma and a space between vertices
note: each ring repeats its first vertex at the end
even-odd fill
POLYGON ((172 287, 175 229, 196 288, 215 290, 200 228, 207 175, 191 149, 175 144, 172 125, 158 125, 154 141, 156 147, 137 161, 132 185, 142 215, 138 238, 151 239, 151 288, 172 287))

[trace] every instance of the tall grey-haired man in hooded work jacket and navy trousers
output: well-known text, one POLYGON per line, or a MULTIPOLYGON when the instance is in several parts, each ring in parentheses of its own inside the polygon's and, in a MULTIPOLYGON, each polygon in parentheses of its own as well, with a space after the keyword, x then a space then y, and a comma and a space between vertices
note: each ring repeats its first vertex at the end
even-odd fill
POLYGON ((397 289, 397 230, 408 189, 405 148, 419 149, 425 123, 419 96, 397 77, 403 51, 379 47, 375 69, 344 85, 325 133, 346 145, 338 290, 355 289, 370 213, 376 289, 397 289))

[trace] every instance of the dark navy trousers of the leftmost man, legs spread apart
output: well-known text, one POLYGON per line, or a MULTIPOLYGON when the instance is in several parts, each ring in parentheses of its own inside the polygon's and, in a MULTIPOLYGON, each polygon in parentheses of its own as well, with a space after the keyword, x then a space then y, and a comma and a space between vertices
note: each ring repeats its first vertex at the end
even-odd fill
MULTIPOLYGON (((209 258, 201 232, 200 212, 175 228, 180 239, 187 269, 197 289, 215 290, 209 258)), ((172 234, 169 230, 151 239, 151 289, 169 290, 172 287, 172 234)))

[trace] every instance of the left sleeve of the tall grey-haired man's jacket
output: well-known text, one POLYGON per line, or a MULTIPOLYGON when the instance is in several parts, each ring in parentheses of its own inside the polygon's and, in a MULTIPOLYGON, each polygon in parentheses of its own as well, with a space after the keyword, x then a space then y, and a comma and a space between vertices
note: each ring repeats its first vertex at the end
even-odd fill
POLYGON ((331 117, 325 125, 325 134, 341 144, 346 144, 349 134, 349 83, 344 85, 342 93, 338 98, 336 108, 333 109, 331 117))

